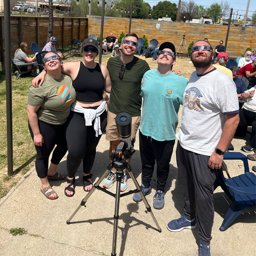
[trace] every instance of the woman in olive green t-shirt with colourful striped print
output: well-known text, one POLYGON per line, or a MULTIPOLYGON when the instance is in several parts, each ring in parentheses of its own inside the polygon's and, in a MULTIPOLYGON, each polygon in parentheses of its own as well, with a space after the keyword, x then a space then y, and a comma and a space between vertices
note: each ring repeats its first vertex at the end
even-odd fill
POLYGON ((37 151, 35 169, 41 180, 41 192, 53 200, 58 195, 48 180, 65 179, 56 169, 67 152, 65 125, 76 92, 71 78, 61 73, 62 64, 56 53, 47 52, 43 61, 47 76, 38 89, 30 84, 27 113, 29 131, 37 151), (48 169, 49 156, 55 145, 48 169))

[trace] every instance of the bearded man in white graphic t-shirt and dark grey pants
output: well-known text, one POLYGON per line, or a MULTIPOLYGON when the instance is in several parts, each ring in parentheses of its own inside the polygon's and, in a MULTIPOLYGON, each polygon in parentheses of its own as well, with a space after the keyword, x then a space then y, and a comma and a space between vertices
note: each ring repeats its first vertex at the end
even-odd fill
POLYGON ((239 124, 239 104, 233 80, 212 66, 211 45, 197 41, 191 52, 196 71, 183 94, 182 120, 176 134, 184 214, 170 221, 167 228, 177 232, 194 229, 198 223, 199 256, 209 256, 214 217, 213 186, 224 152, 239 124))

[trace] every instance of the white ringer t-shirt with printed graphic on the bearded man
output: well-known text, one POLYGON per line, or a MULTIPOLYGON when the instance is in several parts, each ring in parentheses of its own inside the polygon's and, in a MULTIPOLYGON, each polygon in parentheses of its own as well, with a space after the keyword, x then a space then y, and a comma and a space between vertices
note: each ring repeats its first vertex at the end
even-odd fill
POLYGON ((203 75, 195 71, 183 94, 176 137, 182 148, 210 156, 221 138, 225 114, 238 112, 236 85, 229 76, 216 68, 203 75))

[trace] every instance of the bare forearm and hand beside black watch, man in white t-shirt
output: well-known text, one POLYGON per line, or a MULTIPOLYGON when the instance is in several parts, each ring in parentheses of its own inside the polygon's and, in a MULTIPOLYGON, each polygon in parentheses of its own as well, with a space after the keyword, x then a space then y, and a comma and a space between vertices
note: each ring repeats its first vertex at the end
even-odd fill
MULTIPOLYGON (((225 115, 225 117, 226 122, 223 127, 221 138, 216 147, 219 148, 221 151, 227 150, 227 147, 230 145, 235 135, 236 128, 239 124, 239 113, 227 114, 225 115)), ((210 156, 208 167, 211 169, 221 169, 222 161, 223 155, 219 155, 214 151, 210 156)))

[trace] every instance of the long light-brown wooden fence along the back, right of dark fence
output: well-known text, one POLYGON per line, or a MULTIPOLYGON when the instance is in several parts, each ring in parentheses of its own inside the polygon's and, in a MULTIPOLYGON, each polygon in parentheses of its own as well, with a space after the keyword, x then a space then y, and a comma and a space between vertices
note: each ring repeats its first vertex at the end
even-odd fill
MULTIPOLYGON (((88 17, 88 30, 89 34, 100 35, 101 17, 87 16, 88 17)), ((220 40, 226 40, 228 26, 221 25, 208 25, 208 24, 194 24, 184 22, 169 22, 158 20, 138 20, 132 19, 131 32, 134 32, 138 37, 145 37, 148 43, 151 39, 157 39, 159 44, 165 41, 172 42, 176 49, 178 49, 183 35, 186 35, 186 44, 194 41, 204 40, 208 38, 208 42, 215 49, 220 40), (159 24, 159 25, 157 25, 159 24)), ((128 18, 104 18, 104 36, 108 36, 111 32, 116 38, 119 38, 122 31, 127 34, 129 31, 128 18)), ((256 49, 256 29, 242 27, 230 27, 229 38, 227 43, 227 54, 230 58, 241 56, 245 49, 251 47, 256 49)), ((186 51, 186 47, 185 47, 186 51)))

